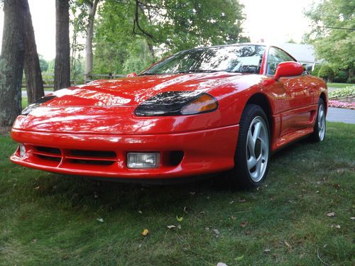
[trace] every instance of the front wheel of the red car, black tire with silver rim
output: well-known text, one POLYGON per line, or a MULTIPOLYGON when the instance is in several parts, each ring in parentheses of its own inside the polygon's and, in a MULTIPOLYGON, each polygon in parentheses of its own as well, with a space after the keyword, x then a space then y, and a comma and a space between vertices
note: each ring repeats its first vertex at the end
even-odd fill
POLYGON ((239 137, 234 155, 234 169, 227 173, 231 187, 259 187, 268 174, 270 128, 260 106, 248 104, 239 123, 239 137))

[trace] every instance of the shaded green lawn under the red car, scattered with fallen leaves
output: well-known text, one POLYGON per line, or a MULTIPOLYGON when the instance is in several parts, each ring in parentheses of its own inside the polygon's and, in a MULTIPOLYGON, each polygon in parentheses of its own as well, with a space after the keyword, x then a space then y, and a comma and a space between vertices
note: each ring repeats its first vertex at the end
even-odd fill
POLYGON ((0 137, 0 265, 322 265, 317 253, 355 265, 354 135, 355 125, 329 123, 324 143, 273 155, 266 183, 249 192, 30 170, 9 162, 16 143, 0 137))

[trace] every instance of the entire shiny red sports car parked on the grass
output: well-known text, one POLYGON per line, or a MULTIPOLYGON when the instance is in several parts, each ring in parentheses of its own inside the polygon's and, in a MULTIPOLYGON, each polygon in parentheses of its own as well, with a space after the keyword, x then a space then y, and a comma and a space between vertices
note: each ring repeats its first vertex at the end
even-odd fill
POLYGON ((13 124, 18 165, 107 179, 226 171, 263 182, 271 153, 322 141, 327 85, 284 50, 260 44, 185 50, 141 74, 45 96, 13 124))

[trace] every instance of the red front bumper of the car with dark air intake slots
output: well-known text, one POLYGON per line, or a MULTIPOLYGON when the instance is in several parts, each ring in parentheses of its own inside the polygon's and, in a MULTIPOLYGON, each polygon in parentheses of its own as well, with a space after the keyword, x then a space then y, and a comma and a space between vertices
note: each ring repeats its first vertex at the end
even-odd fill
POLYGON ((187 177, 233 168, 238 133, 239 125, 156 135, 48 133, 13 128, 11 137, 25 145, 26 155, 21 157, 17 150, 11 156, 11 161, 38 170, 89 177, 187 177), (72 153, 72 150, 90 152, 72 153), (104 156, 90 157, 94 152, 104 156), (154 169, 129 169, 126 163, 129 152, 159 152, 160 166, 154 169), (178 163, 172 164, 169 157, 175 152, 183 156, 178 163))

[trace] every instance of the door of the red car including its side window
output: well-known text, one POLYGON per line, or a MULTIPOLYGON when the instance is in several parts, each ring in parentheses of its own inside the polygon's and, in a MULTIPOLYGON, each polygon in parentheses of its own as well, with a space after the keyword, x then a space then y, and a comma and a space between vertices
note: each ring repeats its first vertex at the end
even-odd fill
MULTIPOLYGON (((275 47, 269 48, 266 61, 266 74, 275 74, 280 62, 295 61, 288 53, 275 47)), ((281 77, 278 85, 282 87, 285 101, 280 110, 280 135, 283 136, 293 131, 312 126, 312 98, 313 91, 310 87, 310 76, 302 74, 297 77, 281 77)))

